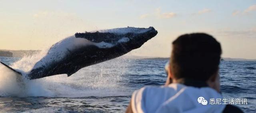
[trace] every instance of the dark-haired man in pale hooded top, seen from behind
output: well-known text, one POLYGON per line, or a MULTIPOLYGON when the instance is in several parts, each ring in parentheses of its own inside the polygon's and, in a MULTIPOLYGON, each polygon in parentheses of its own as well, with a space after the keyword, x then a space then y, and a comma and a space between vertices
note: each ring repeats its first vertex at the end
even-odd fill
POLYGON ((205 33, 185 34, 172 43, 165 86, 132 94, 127 113, 242 113, 222 104, 218 75, 220 43, 205 33))

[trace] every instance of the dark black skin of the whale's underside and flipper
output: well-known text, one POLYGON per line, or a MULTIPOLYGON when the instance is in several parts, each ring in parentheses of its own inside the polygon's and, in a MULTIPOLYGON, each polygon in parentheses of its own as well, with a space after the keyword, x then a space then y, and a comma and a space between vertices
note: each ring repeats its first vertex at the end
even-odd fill
MULTIPOLYGON (((76 33, 76 38, 85 38, 91 42, 110 42, 113 43, 120 37, 127 37, 130 40, 121 42, 110 48, 100 48, 96 45, 87 45, 73 51, 58 62, 52 62, 49 66, 33 68, 26 75, 28 79, 38 79, 57 74, 67 74, 71 76, 81 68, 104 62, 122 56, 133 49, 141 47, 146 41, 157 35, 154 27, 144 33, 76 33)), ((140 28, 143 29, 143 28, 140 28)))

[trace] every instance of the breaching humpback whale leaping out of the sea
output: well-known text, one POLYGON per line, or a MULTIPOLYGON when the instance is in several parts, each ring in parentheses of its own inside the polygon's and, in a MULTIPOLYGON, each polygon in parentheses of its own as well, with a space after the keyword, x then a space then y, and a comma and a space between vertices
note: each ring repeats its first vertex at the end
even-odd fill
POLYGON ((81 68, 137 49, 157 33, 154 27, 124 27, 76 33, 52 45, 48 53, 26 73, 1 63, 16 74, 26 76, 30 80, 57 74, 71 76, 81 68))

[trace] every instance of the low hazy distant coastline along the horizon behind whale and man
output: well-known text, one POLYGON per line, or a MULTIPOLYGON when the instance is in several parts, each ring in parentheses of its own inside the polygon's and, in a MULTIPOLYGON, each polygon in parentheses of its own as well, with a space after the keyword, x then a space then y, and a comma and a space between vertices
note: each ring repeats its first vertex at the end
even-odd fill
MULTIPOLYGON (((22 58, 24 56, 32 56, 41 50, 6 50, 0 49, 0 56, 22 58)), ((144 59, 144 60, 169 60, 168 57, 150 57, 150 56, 121 56, 122 58, 144 59)), ((245 58, 222 58, 222 61, 256 61, 256 59, 245 58)))

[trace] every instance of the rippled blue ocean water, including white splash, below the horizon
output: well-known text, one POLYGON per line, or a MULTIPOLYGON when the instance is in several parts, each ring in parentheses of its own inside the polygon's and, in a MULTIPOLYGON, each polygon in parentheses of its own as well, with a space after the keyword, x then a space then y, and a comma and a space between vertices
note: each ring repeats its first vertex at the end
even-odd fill
MULTIPOLYGON (((28 70, 33 58, 0 57, 15 68, 28 70), (18 62, 17 62, 18 61, 18 62)), ((115 58, 85 67, 74 75, 50 76, 16 84, 0 68, 0 112, 124 112, 134 90, 165 83, 167 60, 115 58)), ((256 112, 256 62, 222 61, 221 92, 225 98, 246 98, 238 105, 256 112)))

